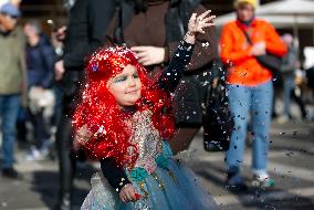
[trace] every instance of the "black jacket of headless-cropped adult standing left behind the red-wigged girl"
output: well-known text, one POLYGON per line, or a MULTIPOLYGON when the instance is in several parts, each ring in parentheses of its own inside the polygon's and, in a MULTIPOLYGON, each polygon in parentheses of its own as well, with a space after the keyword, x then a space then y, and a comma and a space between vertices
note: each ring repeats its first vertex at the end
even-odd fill
POLYGON ((63 56, 65 74, 60 83, 65 112, 76 103, 73 98, 83 82, 85 59, 105 44, 114 11, 113 0, 77 0, 70 11, 63 56))

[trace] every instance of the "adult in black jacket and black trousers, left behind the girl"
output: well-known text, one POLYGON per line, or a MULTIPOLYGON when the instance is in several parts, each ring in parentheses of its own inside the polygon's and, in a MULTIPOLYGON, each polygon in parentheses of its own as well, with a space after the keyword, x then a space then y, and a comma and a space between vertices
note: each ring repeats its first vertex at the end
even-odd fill
MULTIPOLYGON (((55 63, 55 80, 62 88, 62 111, 56 130, 56 149, 60 167, 60 191, 55 209, 71 209, 72 186, 76 168, 73 150, 71 115, 77 104, 75 96, 83 83, 84 59, 105 44, 106 29, 115 10, 112 0, 64 1, 70 11, 64 54, 55 63)), ((62 36, 65 28, 61 28, 62 36)))

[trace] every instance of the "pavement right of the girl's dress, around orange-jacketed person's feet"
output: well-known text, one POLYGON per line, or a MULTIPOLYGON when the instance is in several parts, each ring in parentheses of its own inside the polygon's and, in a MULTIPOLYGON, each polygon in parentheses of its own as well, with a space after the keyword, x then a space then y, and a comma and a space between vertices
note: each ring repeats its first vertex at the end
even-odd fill
MULTIPOLYGON (((221 209, 314 209, 314 125, 272 125, 269 172, 276 185, 269 190, 250 188, 234 195, 224 188, 223 155, 201 149, 201 140, 192 147, 199 149, 193 170, 221 209)), ((248 140, 248 148, 251 146, 248 140)), ((244 178, 250 185, 251 149, 245 150, 244 178)))

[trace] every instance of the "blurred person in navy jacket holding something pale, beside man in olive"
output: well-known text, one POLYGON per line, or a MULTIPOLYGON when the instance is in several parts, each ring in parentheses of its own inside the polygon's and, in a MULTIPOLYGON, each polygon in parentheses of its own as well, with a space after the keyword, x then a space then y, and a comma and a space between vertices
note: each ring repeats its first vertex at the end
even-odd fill
POLYGON ((50 101, 48 94, 52 94, 48 90, 51 87, 53 78, 54 50, 48 38, 41 33, 39 21, 29 20, 23 30, 28 38, 27 67, 30 101, 28 118, 32 123, 35 139, 27 160, 38 160, 49 155, 49 145, 51 145, 49 120, 44 118, 45 106, 43 105, 49 105, 45 103, 50 101))

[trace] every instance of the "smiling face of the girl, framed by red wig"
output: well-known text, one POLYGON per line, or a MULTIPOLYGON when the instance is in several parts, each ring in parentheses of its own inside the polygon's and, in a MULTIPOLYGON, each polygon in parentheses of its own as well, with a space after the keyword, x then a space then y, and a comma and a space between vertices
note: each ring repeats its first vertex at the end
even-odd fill
POLYGON ((121 106, 132 106, 140 97, 142 82, 135 66, 127 65, 108 81, 107 87, 121 106))

